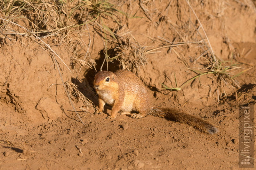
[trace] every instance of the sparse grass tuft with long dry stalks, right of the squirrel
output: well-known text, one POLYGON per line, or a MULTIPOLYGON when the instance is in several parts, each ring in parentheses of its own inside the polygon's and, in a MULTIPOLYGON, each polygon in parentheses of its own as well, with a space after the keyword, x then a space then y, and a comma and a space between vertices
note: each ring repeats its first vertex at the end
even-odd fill
MULTIPOLYGON (((215 53, 212 49, 210 40, 208 39, 207 34, 204 31, 204 27, 201 24, 201 21, 199 20, 199 18, 197 17, 196 12, 194 11, 193 7, 190 5, 189 1, 187 1, 187 0, 185 0, 185 1, 187 2, 189 9, 193 12, 196 22, 199 24, 199 26, 196 26, 196 24, 194 24, 195 22, 193 22, 193 19, 191 18, 191 16, 187 15, 188 16, 188 25, 184 25, 185 30, 191 29, 191 27, 189 27, 189 25, 192 25, 193 26, 192 28, 194 28, 194 30, 192 29, 192 31, 188 31, 188 32, 186 32, 186 31, 179 32, 178 29, 176 28, 177 26, 173 26, 171 24, 172 28, 175 30, 175 32, 179 36, 181 42, 179 42, 179 43, 170 42, 164 38, 159 37, 161 41, 163 41, 164 43, 167 42, 168 45, 165 44, 164 46, 158 47, 156 49, 161 49, 161 48, 166 48, 166 47, 174 48, 174 47, 177 47, 178 45, 179 46, 180 45, 190 46, 190 44, 198 44, 198 47, 202 51, 202 53, 201 53, 201 55, 199 55, 199 57, 197 57, 193 61, 193 66, 195 66, 196 63, 198 64, 198 61, 201 59, 202 63, 199 63, 201 66, 201 69, 197 70, 197 69, 188 68, 189 70, 195 72, 197 75, 188 79, 187 81, 183 82, 180 86, 177 86, 176 76, 174 74, 176 87, 167 87, 166 85, 161 83, 162 88, 168 89, 168 90, 181 90, 183 87, 185 87, 188 83, 195 80, 196 78, 199 79, 200 76, 212 74, 212 75, 214 75, 213 81, 214 81, 214 83, 217 84, 217 88, 213 91, 217 92, 217 99, 219 101, 219 99, 223 97, 223 94, 224 94, 224 96, 226 96, 224 86, 232 85, 236 88, 240 88, 239 82, 236 81, 236 77, 245 73, 252 67, 250 67, 248 69, 244 69, 243 71, 239 71, 240 69, 242 69, 241 63, 233 64, 232 58, 229 61, 220 60, 215 55, 215 53), (188 35, 191 34, 191 32, 192 32, 192 34, 189 36, 187 35, 187 37, 191 37, 191 39, 193 39, 193 41, 187 40, 186 38, 184 38, 185 36, 182 36, 185 32, 188 35), (206 41, 204 39, 206 39, 206 41), (238 73, 235 74, 235 72, 238 72, 238 73)), ((185 10, 184 10, 184 12, 186 14, 185 10)), ((149 50, 148 52, 154 51, 156 49, 149 50)), ((176 52, 174 49, 172 49, 172 50, 176 53, 178 59, 180 59, 181 61, 184 62, 186 67, 190 67, 190 66, 188 66, 188 63, 184 60, 184 57, 180 56, 180 54, 178 52, 176 52)), ((200 79, 199 79, 199 83, 200 83, 200 79)))

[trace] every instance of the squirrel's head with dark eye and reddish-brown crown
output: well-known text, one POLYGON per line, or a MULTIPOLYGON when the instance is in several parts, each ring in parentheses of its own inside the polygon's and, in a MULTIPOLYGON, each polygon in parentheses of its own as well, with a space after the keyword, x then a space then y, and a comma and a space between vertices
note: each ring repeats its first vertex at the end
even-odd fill
POLYGON ((93 85, 96 90, 111 88, 115 82, 115 74, 111 71, 100 71, 95 74, 93 85))

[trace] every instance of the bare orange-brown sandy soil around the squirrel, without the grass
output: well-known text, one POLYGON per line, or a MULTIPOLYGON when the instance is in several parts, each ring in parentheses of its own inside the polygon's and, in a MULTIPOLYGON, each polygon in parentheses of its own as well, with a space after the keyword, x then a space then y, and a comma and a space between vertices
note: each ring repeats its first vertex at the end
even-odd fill
MULTIPOLYGON (((147 64, 132 71, 148 87, 152 106, 176 107, 202 117, 219 126, 218 134, 207 135, 186 124, 153 116, 134 120, 128 115, 118 115, 115 120, 105 119, 110 108, 106 108, 104 114, 94 115, 94 107, 86 107, 74 97, 83 125, 61 85, 51 53, 26 36, 16 36, 12 41, 2 37, 0 169, 238 169, 238 105, 256 101, 255 6, 251 1, 231 0, 196 1, 191 5, 216 56, 242 64, 241 70, 234 74, 252 67, 236 78, 240 87, 228 82, 228 85, 222 84, 224 91, 217 91, 215 76, 203 75, 200 81, 196 79, 180 91, 164 90, 161 83, 175 86, 174 74, 180 86, 197 75, 188 68, 203 68, 203 57, 194 64, 203 53, 196 43, 145 53, 147 64)), ((143 17, 124 17, 124 26, 116 31, 122 34, 123 45, 128 44, 131 49, 140 46, 141 50, 151 50, 169 41, 200 40, 193 27, 201 29, 200 25, 186 1, 143 1, 142 4, 127 1, 118 8, 143 17)), ((26 20, 17 22, 29 26, 26 20)), ((109 22, 108 27, 114 30, 117 24, 109 22)), ((89 30, 93 30, 92 25, 89 30)), ((88 45, 87 33, 82 37, 88 45)), ((98 33, 91 32, 90 36, 91 58, 86 60, 95 60, 99 70, 104 59, 104 44, 98 33)), ((47 39, 52 49, 65 63, 71 63, 72 39, 56 46, 53 39, 47 39)), ((115 55, 118 41, 109 40, 110 55, 115 55)), ((75 51, 81 58, 87 52, 82 47, 75 51)), ((70 64, 70 73, 57 60, 64 81, 76 84, 96 107, 97 97, 92 89, 95 69, 84 66, 77 74, 80 66, 70 64)), ((115 71, 124 60, 109 62, 103 70, 115 71)), ((121 68, 125 67, 128 65, 123 64, 121 68)))

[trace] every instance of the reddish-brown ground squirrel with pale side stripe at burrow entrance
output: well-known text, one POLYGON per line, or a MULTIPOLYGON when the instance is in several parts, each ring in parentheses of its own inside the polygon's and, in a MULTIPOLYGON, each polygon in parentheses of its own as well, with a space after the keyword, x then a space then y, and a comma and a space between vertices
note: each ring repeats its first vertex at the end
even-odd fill
POLYGON ((96 112, 98 114, 102 113, 106 103, 112 106, 111 114, 107 118, 116 118, 118 112, 130 114, 131 111, 136 111, 139 113, 132 114, 132 118, 138 119, 146 115, 153 115, 187 123, 205 133, 214 134, 218 132, 215 125, 178 109, 150 107, 147 88, 139 77, 130 71, 98 72, 93 84, 99 95, 99 110, 96 112))

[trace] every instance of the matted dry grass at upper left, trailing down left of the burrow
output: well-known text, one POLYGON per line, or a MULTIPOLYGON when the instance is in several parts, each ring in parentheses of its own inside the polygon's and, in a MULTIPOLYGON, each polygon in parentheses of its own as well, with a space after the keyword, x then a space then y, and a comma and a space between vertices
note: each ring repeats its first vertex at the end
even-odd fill
MULTIPOLYGON (((64 68, 59 67, 59 60, 72 75, 76 76, 75 78, 79 75, 81 67, 95 69, 95 61, 91 60, 89 54, 91 39, 90 43, 87 44, 83 41, 82 36, 90 37, 90 31, 97 31, 92 25, 100 23, 98 25, 104 31, 101 36, 105 41, 107 42, 107 37, 115 38, 111 29, 103 22, 103 20, 113 20, 119 23, 118 16, 126 15, 115 9, 115 5, 107 0, 0 0, 0 14, 3 16, 0 18, 2 45, 12 43, 19 36, 25 36, 36 41, 42 48, 52 53, 55 68, 58 69, 73 109, 75 110, 75 107, 71 98, 76 101, 82 100, 86 107, 93 108, 92 102, 77 89, 75 84, 71 83, 72 77, 69 77, 70 80, 64 83, 62 78, 64 68), (89 26, 92 27, 92 30, 89 30, 89 26), (7 42, 7 39, 9 42, 7 42), (60 46, 62 43, 67 44, 66 51, 69 54, 69 63, 65 63, 62 56, 58 55, 49 45, 60 46), (78 57, 77 53, 83 49, 87 49, 86 54, 84 57, 78 57), (55 56, 59 60, 56 60, 55 56), (75 69, 76 65, 80 67, 79 71, 75 69)), ((108 49, 107 43, 105 49, 108 49)))

